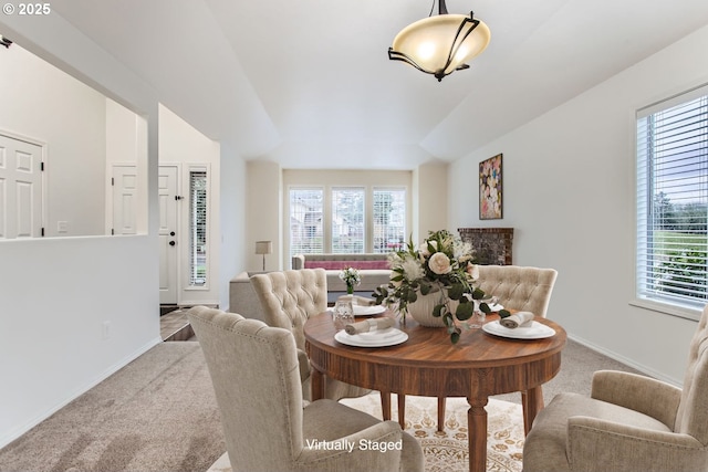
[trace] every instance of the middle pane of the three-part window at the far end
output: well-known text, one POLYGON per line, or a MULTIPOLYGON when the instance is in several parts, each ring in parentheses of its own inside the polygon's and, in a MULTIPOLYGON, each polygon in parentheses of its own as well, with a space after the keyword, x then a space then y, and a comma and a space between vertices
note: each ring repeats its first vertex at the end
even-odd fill
POLYGON ((365 189, 332 189, 332 252, 364 252, 364 200, 365 189))

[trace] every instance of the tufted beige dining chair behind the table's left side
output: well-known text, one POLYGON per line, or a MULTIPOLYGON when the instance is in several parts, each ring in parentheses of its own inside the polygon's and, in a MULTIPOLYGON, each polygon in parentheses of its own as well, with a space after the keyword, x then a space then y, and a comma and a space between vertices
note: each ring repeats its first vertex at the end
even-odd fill
MULTIPOLYGON (((263 307, 263 319, 269 326, 292 332, 298 346, 301 366, 306 373, 303 381, 305 399, 311 398, 310 360, 305 354, 304 325, 310 316, 327 310, 327 281, 324 269, 299 269, 269 272, 251 276, 251 283, 263 307)), ((361 397, 371 390, 325 379, 325 398, 361 397)))

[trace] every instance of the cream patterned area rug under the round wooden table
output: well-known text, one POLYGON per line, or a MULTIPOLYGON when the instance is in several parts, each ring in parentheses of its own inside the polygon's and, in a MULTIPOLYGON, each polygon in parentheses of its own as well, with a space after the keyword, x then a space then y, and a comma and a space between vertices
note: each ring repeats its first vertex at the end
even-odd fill
MULTIPOLYGON (((394 396, 393 418, 397 419, 394 396)), ((377 418, 381 415, 381 397, 377 392, 365 397, 342 400, 377 418)), ((464 398, 448 398, 445 431, 437 431, 437 399, 406 397, 406 431, 418 439, 425 454, 426 472, 466 472, 469 470, 467 442, 467 410, 464 398)), ((520 472, 523 450, 523 420, 521 406, 490 399, 487 405, 487 471, 520 472)), ((227 454, 208 472, 230 472, 227 454)))

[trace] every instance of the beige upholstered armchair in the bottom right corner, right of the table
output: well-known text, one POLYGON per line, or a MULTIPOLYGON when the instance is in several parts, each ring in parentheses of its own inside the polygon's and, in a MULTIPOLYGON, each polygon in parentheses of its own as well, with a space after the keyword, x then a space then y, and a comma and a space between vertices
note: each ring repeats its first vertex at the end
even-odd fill
POLYGON ((683 389, 600 370, 590 397, 563 392, 527 436, 524 472, 708 471, 708 306, 688 349, 683 389))

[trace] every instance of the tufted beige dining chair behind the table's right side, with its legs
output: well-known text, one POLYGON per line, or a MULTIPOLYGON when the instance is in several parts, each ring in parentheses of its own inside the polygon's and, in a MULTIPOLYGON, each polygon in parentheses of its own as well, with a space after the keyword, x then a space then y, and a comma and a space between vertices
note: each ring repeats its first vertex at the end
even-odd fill
MULTIPOLYGON (((554 269, 540 269, 520 265, 479 265, 477 286, 486 294, 499 298, 507 310, 531 312, 535 316, 545 317, 553 285, 558 277, 554 269)), ((531 429, 525 416, 528 401, 543 402, 542 395, 530 399, 525 391, 521 392, 524 410, 524 429, 531 429)), ((405 415, 405 397, 398 396, 398 415, 405 415)), ((445 429, 445 398, 438 398, 438 431, 445 429)))

